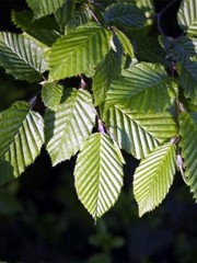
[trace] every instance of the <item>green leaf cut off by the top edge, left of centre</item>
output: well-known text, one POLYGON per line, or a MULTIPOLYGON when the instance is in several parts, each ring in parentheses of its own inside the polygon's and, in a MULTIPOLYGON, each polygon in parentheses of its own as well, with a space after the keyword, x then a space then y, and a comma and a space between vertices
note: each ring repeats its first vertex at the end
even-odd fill
POLYGON ((26 0, 28 7, 34 11, 34 19, 55 13, 65 0, 26 0))

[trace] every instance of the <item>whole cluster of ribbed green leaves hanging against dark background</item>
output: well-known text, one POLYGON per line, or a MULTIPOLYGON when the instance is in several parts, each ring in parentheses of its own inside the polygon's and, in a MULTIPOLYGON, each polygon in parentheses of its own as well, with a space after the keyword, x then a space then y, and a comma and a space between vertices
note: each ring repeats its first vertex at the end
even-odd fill
POLYGON ((121 150, 141 160, 140 216, 162 203, 176 171, 196 199, 196 0, 182 0, 177 38, 151 34, 161 28, 152 0, 26 2, 12 12, 22 34, 0 33, 0 65, 39 83, 45 113, 34 111, 38 96, 0 113, 0 165, 18 178, 43 146, 53 165, 78 153, 77 194, 95 220, 120 194, 121 150), (79 87, 66 84, 70 77, 79 87))

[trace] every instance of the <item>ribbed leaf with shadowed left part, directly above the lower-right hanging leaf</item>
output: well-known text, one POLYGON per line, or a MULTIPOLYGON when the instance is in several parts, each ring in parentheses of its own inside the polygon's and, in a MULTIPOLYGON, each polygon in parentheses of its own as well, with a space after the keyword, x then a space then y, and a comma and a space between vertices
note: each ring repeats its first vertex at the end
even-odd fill
POLYGON ((167 112, 140 114, 114 105, 103 118, 109 134, 118 141, 120 148, 137 159, 144 158, 177 133, 175 122, 167 112))

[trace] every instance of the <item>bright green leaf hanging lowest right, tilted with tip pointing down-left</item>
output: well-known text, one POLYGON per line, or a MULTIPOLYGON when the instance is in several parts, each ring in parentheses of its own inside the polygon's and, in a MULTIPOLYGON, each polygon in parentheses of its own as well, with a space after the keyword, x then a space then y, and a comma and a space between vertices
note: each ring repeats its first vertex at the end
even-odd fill
POLYGON ((166 196, 176 171, 176 152, 173 144, 165 144, 141 160, 134 175, 134 195, 139 216, 154 209, 166 196))

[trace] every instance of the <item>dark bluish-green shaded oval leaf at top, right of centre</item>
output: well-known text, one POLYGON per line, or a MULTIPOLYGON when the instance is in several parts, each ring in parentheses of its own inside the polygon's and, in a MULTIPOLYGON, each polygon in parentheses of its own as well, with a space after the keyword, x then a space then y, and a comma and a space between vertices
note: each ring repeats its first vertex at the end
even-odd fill
POLYGON ((124 30, 138 30, 146 24, 142 10, 131 3, 114 3, 104 12, 107 25, 115 25, 124 30))

